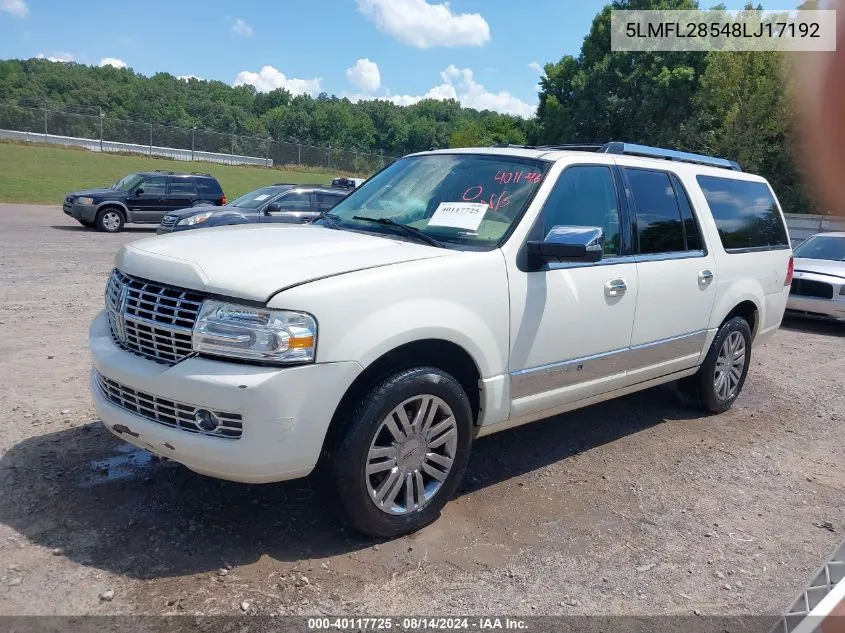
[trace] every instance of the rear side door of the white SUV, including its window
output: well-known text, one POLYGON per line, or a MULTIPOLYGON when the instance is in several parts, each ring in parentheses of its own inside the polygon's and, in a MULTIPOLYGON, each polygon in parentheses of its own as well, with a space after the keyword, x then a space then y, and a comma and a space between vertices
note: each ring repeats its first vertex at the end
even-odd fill
POLYGON ((678 177, 623 166, 639 294, 628 383, 694 367, 716 298, 716 258, 678 177))

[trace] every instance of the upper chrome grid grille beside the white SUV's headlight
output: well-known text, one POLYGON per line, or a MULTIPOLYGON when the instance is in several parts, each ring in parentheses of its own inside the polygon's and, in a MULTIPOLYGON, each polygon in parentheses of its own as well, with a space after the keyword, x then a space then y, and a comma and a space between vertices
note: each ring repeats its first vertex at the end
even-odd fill
POLYGON ((191 334, 205 296, 117 269, 106 286, 106 312, 115 342, 173 365, 193 352, 191 334))

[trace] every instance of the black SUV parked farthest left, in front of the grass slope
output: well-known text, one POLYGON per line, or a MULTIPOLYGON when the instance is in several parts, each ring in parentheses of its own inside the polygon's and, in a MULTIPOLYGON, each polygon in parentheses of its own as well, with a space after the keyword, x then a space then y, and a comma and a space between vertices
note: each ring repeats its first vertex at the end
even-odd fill
POLYGON ((223 188, 210 174, 145 171, 124 176, 106 189, 71 193, 62 209, 83 226, 117 233, 127 222, 158 224, 170 211, 223 204, 223 188))

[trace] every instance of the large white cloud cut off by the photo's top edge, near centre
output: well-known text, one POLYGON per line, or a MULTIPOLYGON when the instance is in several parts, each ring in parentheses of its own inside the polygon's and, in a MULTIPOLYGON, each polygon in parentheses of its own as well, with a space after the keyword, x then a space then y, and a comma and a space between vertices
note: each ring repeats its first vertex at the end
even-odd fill
POLYGON ((454 14, 447 2, 358 0, 358 10, 380 31, 417 48, 483 46, 490 41, 490 26, 480 13, 454 14))

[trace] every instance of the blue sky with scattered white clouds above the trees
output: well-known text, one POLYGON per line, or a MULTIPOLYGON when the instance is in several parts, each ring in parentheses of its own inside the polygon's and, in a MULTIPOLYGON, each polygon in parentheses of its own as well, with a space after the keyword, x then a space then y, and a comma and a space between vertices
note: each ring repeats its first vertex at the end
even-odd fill
POLYGON ((145 75, 165 71, 400 104, 453 97, 530 115, 537 64, 577 54, 604 4, 144 0, 128 10, 114 0, 0 0, 0 58, 126 64, 145 75))

